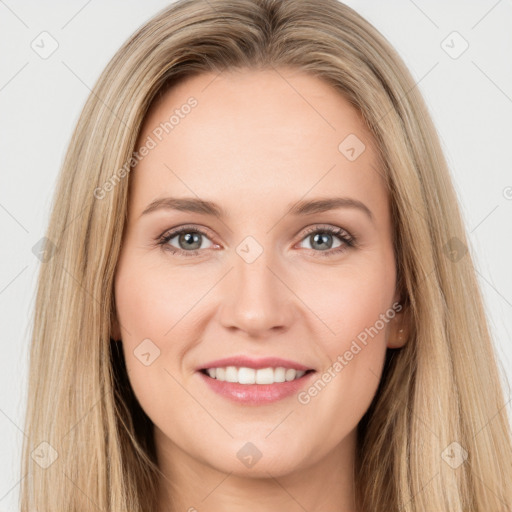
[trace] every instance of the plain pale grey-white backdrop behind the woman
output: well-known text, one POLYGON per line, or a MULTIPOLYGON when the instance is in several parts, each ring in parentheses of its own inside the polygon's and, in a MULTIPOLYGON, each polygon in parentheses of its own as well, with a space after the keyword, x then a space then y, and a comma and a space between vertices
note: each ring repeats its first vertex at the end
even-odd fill
MULTIPOLYGON (((0 512, 18 507, 40 265, 32 248, 45 233, 90 89, 121 44, 169 3, 0 0, 0 512), (37 49, 41 37, 47 51, 58 45, 49 56, 37 49)), ((503 379, 512 381, 512 3, 347 3, 398 50, 426 99, 459 196, 503 379)))

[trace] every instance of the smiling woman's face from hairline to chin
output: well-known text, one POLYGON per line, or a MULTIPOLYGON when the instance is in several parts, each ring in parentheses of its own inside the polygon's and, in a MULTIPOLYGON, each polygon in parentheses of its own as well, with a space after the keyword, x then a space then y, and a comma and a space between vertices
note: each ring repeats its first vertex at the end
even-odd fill
POLYGON ((300 72, 203 74, 153 106, 143 145, 114 332, 159 457, 273 476, 348 457, 399 346, 390 204, 362 118, 300 72), (254 364, 216 362, 242 356, 254 364), (314 372, 286 381, 263 358, 314 372), (235 369, 216 370, 223 383, 211 366, 235 369))

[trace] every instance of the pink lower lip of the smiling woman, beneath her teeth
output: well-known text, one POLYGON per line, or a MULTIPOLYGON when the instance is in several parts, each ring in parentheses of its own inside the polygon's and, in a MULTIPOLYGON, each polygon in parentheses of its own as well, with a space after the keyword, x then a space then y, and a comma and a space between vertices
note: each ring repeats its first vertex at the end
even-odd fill
POLYGON ((298 393, 316 372, 306 373, 299 379, 276 382, 274 384, 239 384, 237 382, 212 379, 203 372, 198 373, 206 385, 219 395, 225 396, 237 403, 264 405, 298 393))

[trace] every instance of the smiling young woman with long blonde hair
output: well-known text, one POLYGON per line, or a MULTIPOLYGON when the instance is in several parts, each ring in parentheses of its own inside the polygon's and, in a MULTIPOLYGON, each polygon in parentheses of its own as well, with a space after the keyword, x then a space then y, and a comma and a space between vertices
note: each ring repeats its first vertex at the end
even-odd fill
POLYGON ((127 41, 56 191, 22 511, 512 507, 414 85, 334 0, 179 1, 127 41))

